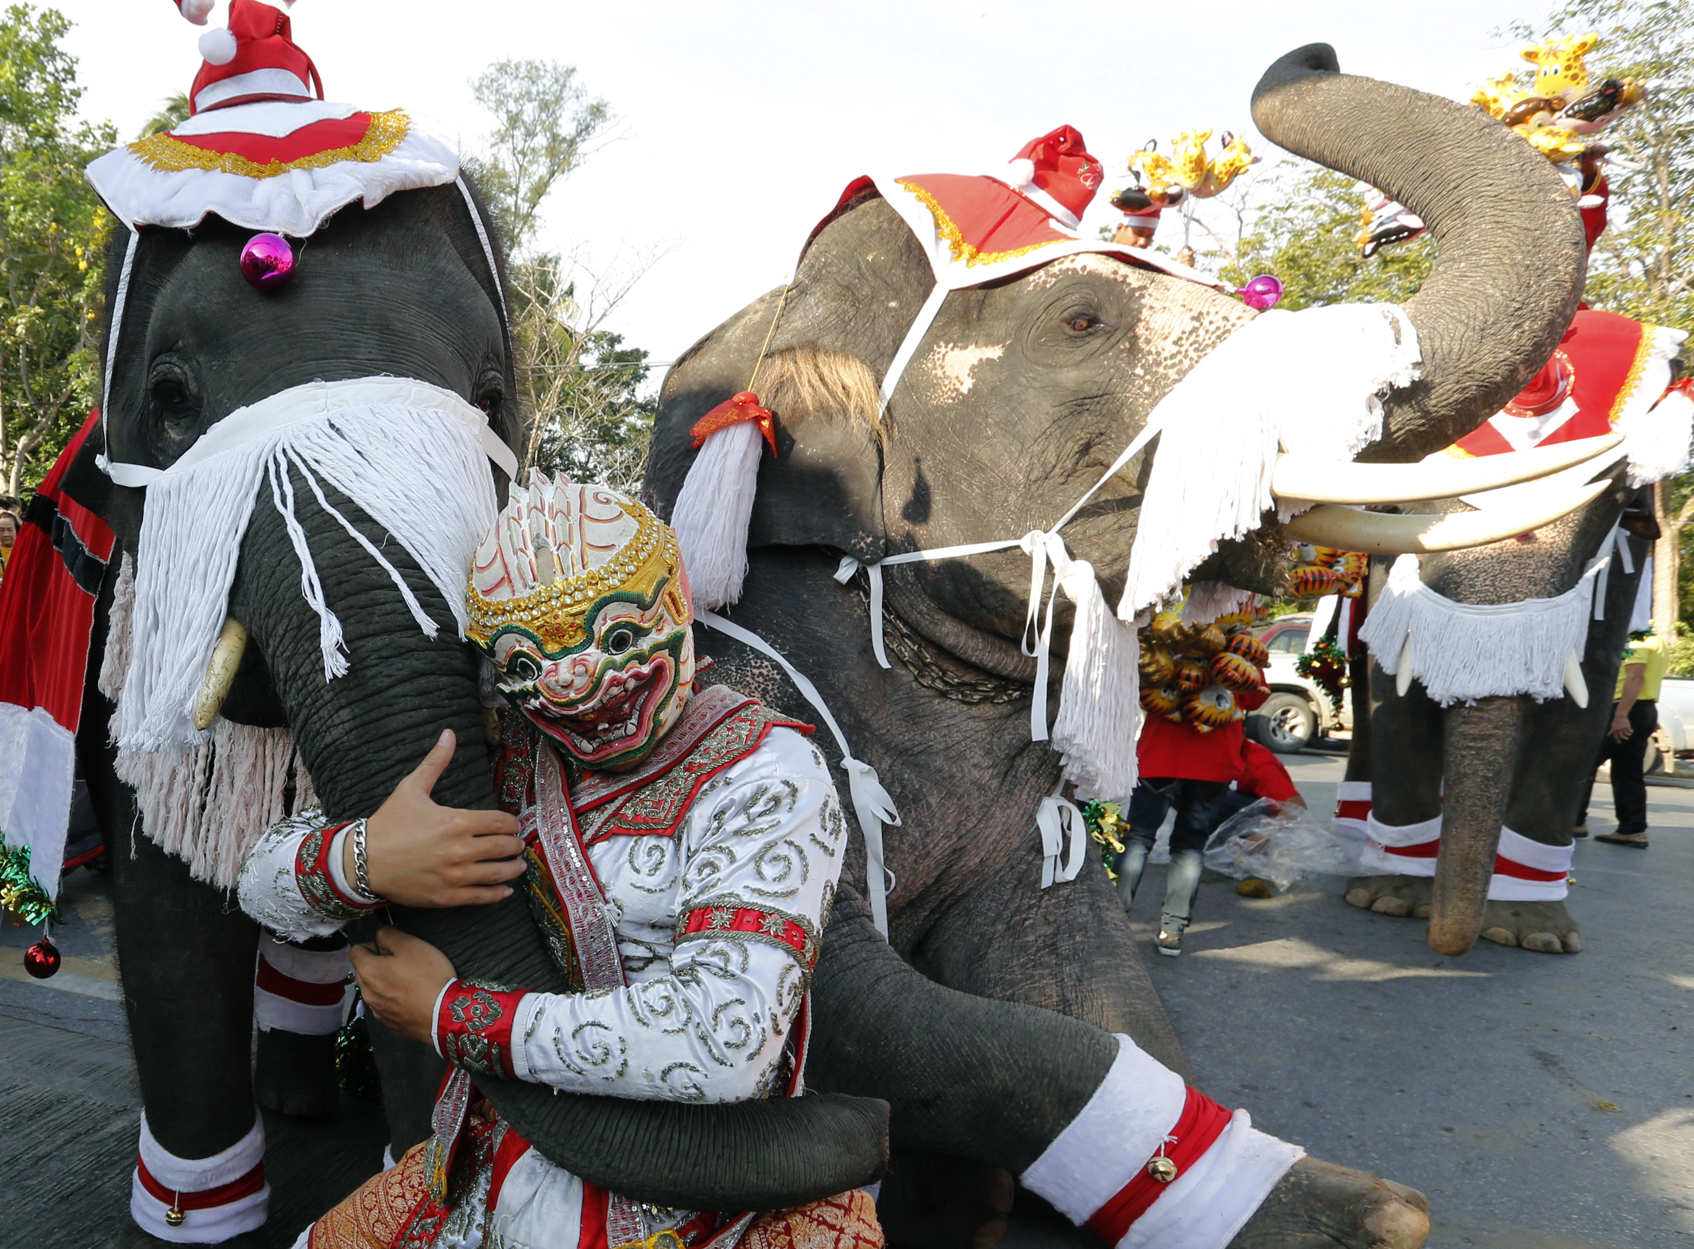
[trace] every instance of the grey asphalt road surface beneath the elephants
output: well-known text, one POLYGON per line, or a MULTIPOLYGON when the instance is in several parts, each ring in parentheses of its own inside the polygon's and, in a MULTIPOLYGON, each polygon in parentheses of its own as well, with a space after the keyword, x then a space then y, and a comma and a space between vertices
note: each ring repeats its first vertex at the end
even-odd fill
MULTIPOLYGON (((1340 761, 1291 764, 1330 807, 1340 761)), ((1652 849, 1577 849, 1575 958, 1482 944, 1445 959, 1421 922, 1354 910, 1337 880, 1264 902, 1206 885, 1182 958, 1149 958, 1201 1086, 1321 1157, 1423 1188, 1435 1249, 1694 1246, 1694 790, 1650 798, 1652 849)), ((66 885, 53 981, 24 978, 34 935, 0 927, 0 1249, 103 1244, 129 1200, 139 1096, 110 903, 85 871, 66 885)), ((1154 868, 1143 952, 1162 891, 1154 868)), ((352 1098, 337 1120, 268 1115, 266 1130, 278 1246, 383 1144, 352 1098)))

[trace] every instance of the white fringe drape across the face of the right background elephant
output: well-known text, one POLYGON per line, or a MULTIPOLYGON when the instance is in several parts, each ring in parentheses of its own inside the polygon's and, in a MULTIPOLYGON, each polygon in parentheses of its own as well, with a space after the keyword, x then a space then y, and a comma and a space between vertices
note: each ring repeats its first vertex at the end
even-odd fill
POLYGON ((1359 639, 1389 676, 1399 674, 1409 641, 1413 676, 1442 707, 1520 693, 1560 698, 1567 658, 1581 661, 1587 649, 1594 583, 1606 566, 1596 559, 1557 598, 1459 603, 1423 585, 1418 556, 1401 556, 1359 639))

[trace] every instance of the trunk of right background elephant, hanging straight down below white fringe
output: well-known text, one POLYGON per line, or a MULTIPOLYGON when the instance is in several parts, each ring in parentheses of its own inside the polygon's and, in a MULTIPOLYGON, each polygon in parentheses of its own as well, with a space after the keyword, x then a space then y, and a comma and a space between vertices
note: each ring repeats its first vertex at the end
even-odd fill
POLYGON ((1442 719, 1445 769, 1442 856, 1430 900, 1430 946, 1464 954, 1482 932, 1501 820, 1525 722, 1523 695, 1450 707, 1442 719))

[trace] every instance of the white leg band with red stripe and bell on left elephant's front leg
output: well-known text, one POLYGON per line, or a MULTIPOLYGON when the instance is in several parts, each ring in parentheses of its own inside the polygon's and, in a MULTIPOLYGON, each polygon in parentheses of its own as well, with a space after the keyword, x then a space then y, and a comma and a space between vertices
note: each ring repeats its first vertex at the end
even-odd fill
POLYGON ((129 1213, 141 1230, 173 1244, 219 1244, 264 1225, 271 1186, 264 1180, 264 1124, 212 1157, 178 1157, 152 1139, 141 1117, 141 1156, 129 1213))

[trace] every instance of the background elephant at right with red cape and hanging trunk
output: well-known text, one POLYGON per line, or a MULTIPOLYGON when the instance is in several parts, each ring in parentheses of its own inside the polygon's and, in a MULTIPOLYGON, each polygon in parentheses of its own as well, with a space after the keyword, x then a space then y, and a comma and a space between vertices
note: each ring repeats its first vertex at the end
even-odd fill
POLYGON ((1477 934, 1545 954, 1582 947, 1564 903, 1572 830, 1657 536, 1643 483, 1687 454, 1684 400, 1660 398, 1680 341, 1579 312, 1538 383, 1460 446, 1487 451, 1535 422, 1562 437, 1616 425, 1628 439, 1601 497, 1509 542, 1426 556, 1414 580, 1372 568, 1340 824, 1382 871, 1348 881, 1347 900, 1430 917, 1447 954, 1477 934), (1457 668, 1472 676, 1455 683, 1457 668))

